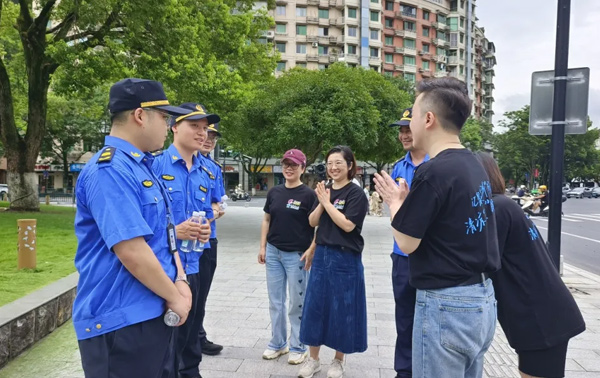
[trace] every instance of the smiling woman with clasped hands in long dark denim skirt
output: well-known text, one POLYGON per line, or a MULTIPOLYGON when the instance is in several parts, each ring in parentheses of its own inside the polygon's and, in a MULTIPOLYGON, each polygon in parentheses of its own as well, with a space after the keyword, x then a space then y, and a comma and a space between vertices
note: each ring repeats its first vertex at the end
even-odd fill
POLYGON ((321 345, 335 349, 328 378, 344 374, 344 354, 367 349, 367 301, 361 260, 364 240, 360 235, 369 202, 352 183, 356 159, 346 146, 332 148, 326 157, 332 184, 317 184, 318 203, 309 221, 317 229, 315 252, 307 253, 311 264, 300 341, 309 345, 310 357, 298 377, 310 378, 321 370, 321 345))

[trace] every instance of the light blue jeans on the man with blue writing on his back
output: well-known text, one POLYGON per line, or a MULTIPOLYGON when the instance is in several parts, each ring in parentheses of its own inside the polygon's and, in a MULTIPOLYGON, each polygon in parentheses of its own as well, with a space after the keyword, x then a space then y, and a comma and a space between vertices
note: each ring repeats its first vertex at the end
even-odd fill
POLYGON ((417 290, 413 377, 481 377, 495 329, 490 279, 485 284, 417 290))

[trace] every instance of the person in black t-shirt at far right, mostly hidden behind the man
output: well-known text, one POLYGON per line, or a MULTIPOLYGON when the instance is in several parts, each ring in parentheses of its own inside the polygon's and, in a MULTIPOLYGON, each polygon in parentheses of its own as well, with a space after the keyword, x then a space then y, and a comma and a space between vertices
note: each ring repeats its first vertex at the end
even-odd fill
POLYGON ((564 377, 569 339, 585 330, 575 299, 550 259, 546 243, 519 205, 504 195, 504 178, 488 154, 502 268, 491 278, 498 320, 519 355, 522 377, 564 377))

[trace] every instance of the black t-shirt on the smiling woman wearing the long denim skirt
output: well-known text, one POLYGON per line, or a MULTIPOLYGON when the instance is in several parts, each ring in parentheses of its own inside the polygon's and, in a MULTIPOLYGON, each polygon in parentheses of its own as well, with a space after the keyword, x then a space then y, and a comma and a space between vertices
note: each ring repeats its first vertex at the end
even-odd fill
MULTIPOLYGON (((344 251, 361 253, 365 242, 360 235, 365 216, 369 211, 369 201, 363 190, 356 184, 349 182, 340 189, 330 188, 331 203, 346 219, 356 225, 350 232, 339 228, 331 219, 327 211, 323 211, 317 228, 317 244, 340 248, 344 251)), ((319 205, 317 201, 313 206, 319 205)))

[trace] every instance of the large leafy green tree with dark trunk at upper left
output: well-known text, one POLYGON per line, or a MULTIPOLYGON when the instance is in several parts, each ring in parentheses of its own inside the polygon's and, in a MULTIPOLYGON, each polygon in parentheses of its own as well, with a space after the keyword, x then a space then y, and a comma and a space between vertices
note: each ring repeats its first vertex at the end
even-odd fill
POLYGON ((123 77, 149 77, 178 102, 202 99, 220 110, 274 69, 276 56, 258 43, 272 20, 251 0, 45 0, 35 11, 32 3, 0 3, 0 141, 11 209, 39 208, 33 168, 51 84, 83 97, 123 77))

